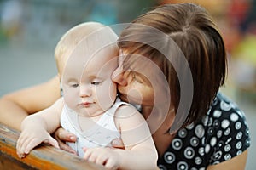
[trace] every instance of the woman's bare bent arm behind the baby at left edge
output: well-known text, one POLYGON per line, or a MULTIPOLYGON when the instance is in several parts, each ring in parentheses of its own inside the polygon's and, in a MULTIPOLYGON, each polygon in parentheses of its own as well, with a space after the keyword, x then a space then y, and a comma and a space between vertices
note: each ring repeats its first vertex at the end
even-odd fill
POLYGON ((0 99, 0 122, 20 130, 26 116, 49 107, 60 96, 58 76, 49 82, 6 94, 0 99))

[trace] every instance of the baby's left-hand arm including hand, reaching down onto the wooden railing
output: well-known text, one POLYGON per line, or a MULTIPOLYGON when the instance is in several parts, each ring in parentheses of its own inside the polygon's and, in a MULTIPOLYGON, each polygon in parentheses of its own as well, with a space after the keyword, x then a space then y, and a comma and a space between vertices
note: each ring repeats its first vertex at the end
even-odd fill
POLYGON ((58 99, 49 108, 26 117, 21 123, 21 133, 16 145, 18 156, 25 157, 42 142, 59 148, 58 143, 50 136, 50 133, 60 127, 62 107, 63 99, 58 99))

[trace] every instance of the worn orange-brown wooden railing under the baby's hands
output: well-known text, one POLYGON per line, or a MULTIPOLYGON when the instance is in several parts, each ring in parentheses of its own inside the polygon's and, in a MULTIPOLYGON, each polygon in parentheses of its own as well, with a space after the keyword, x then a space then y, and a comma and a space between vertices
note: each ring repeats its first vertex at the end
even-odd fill
POLYGON ((0 169, 104 169, 102 166, 84 161, 64 150, 41 144, 25 158, 16 155, 16 141, 20 133, 0 123, 0 169))

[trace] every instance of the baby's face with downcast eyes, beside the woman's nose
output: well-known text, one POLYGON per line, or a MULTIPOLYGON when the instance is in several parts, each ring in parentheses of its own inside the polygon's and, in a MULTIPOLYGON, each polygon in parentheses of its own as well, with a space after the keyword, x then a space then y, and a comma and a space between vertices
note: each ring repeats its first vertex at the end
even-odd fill
POLYGON ((92 53, 77 48, 67 60, 62 75, 64 100, 83 116, 102 114, 116 99, 116 84, 111 75, 118 66, 118 53, 113 49, 117 48, 107 47, 92 53))

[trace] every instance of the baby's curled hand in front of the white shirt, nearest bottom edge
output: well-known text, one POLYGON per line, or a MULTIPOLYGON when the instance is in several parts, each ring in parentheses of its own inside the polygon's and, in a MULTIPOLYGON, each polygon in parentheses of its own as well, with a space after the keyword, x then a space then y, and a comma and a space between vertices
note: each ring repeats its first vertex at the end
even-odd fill
POLYGON ((111 148, 84 148, 84 159, 96 164, 103 165, 108 169, 118 169, 120 156, 111 148))

